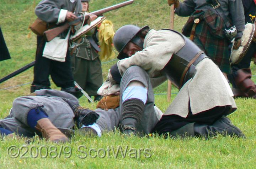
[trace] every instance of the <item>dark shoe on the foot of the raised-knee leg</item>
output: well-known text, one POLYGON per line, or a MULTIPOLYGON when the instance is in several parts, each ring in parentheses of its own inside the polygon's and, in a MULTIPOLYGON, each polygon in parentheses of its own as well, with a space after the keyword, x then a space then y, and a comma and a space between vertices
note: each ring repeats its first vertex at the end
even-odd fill
POLYGON ((123 133, 127 135, 137 135, 138 122, 134 118, 126 118, 122 122, 123 133))

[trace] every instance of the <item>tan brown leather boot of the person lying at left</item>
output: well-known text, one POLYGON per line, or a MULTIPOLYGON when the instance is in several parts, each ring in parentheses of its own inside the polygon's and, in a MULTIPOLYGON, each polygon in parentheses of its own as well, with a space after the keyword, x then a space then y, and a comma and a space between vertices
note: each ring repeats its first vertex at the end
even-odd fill
POLYGON ((41 118, 37 121, 35 128, 42 133, 43 138, 52 142, 67 142, 69 139, 57 129, 49 118, 41 118))

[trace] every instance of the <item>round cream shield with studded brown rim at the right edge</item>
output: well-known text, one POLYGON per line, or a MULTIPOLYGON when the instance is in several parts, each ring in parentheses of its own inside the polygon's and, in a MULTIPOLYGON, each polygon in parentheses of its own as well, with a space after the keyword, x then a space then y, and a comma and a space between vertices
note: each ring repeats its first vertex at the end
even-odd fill
POLYGON ((247 23, 245 25, 245 30, 243 31, 243 35, 241 37, 242 43, 238 49, 233 49, 233 45, 231 48, 230 61, 231 64, 238 64, 244 58, 246 52, 248 51, 251 42, 255 39, 255 24, 247 23))

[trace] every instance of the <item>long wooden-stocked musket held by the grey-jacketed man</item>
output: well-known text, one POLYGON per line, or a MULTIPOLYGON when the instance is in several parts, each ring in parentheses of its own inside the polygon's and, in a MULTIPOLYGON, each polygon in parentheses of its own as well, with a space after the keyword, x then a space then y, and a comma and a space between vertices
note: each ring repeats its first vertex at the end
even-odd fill
POLYGON ((121 8, 123 6, 126 6, 126 5, 129 5, 129 4, 132 4, 134 2, 134 0, 129 0, 129 1, 125 1, 125 2, 122 2, 122 3, 119 3, 119 4, 116 4, 116 5, 112 5, 112 6, 109 6, 109 7, 106 7, 106 8, 103 8, 101 10, 97 10, 97 11, 94 11, 94 12, 91 12, 89 14, 86 14, 85 16, 79 16, 77 19, 75 19, 74 21, 72 22, 66 22, 65 24, 63 24, 62 26, 59 26, 59 27, 56 27, 56 28, 53 28, 53 29, 49 29, 47 31, 44 31, 43 35, 44 35, 44 38, 47 42, 51 41, 52 39, 54 39, 54 37, 58 36, 60 33, 62 33, 63 31, 65 31, 66 29, 68 29, 71 25, 73 25, 74 23, 77 23, 77 22, 80 22, 81 18, 85 17, 85 20, 88 19, 90 16, 90 14, 95 14, 95 15, 101 15, 103 13, 106 13, 106 12, 109 12, 109 11, 112 11, 112 10, 115 10, 115 9, 118 9, 118 8, 121 8))

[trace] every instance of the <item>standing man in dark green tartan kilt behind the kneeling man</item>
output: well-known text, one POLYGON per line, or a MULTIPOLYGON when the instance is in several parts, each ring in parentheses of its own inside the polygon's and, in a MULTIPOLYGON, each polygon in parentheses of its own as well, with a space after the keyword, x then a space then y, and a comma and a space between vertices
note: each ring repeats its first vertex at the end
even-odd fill
POLYGON ((230 73, 229 45, 234 38, 234 49, 241 45, 245 29, 244 8, 241 0, 168 0, 175 4, 178 16, 190 16, 182 29, 185 36, 206 52, 224 76, 230 73))

